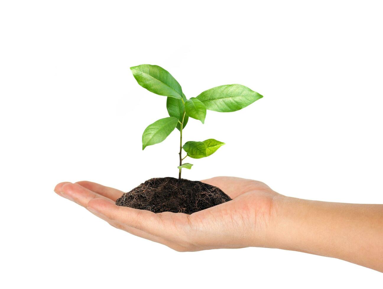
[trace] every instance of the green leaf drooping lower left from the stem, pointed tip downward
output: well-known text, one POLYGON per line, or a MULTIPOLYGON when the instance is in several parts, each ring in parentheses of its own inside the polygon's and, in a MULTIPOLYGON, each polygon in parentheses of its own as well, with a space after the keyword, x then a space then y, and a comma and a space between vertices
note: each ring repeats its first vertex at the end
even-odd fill
POLYGON ((168 135, 177 126, 178 119, 175 117, 165 117, 145 128, 142 134, 142 150, 152 144, 160 143, 165 140, 168 135))

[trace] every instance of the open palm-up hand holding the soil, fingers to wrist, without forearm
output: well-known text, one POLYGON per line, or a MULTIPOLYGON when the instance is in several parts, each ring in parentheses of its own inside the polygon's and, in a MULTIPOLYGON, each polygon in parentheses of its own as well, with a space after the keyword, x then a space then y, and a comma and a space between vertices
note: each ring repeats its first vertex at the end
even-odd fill
POLYGON ((273 220, 282 195, 262 182, 237 177, 214 177, 202 182, 221 188, 232 201, 191 215, 155 214, 116 206, 116 199, 124 192, 93 182, 59 183, 54 191, 113 227, 177 251, 270 247, 273 220))

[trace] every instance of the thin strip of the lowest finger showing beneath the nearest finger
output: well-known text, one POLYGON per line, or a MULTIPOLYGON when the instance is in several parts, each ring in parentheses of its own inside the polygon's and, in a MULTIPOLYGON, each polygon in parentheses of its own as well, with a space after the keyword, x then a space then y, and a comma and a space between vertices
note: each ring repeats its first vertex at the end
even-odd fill
POLYGON ((164 238, 157 237, 155 235, 151 235, 151 234, 149 234, 147 232, 144 232, 144 231, 141 231, 139 229, 126 226, 125 224, 122 224, 120 222, 108 219, 108 218, 106 218, 106 216, 98 214, 98 213, 95 213, 93 211, 90 211, 90 212, 92 214, 94 214, 95 216, 97 216, 98 218, 103 219, 104 221, 108 222, 108 224, 110 224, 112 227, 115 227, 117 229, 120 229, 120 230, 123 230, 125 232, 128 232, 129 234, 132 234, 132 235, 135 235, 137 237, 144 238, 144 239, 147 239, 147 240, 151 240, 151 241, 156 242, 156 243, 160 243, 162 245, 165 245, 165 246, 170 247, 170 248, 172 248, 174 250, 177 250, 177 251, 186 251, 185 247, 182 247, 182 246, 180 246, 178 244, 175 244, 173 242, 165 240, 164 238))

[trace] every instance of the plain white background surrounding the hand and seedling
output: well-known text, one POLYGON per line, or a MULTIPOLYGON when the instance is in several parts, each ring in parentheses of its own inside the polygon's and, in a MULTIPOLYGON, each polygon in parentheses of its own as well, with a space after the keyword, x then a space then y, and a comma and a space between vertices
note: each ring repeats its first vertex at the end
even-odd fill
POLYGON ((183 172, 232 175, 299 198, 383 203, 382 25, 373 1, 0 2, 3 288, 381 288, 383 275, 267 248, 178 253, 116 230, 53 192, 124 191, 177 176, 178 133, 129 67, 164 67, 187 97, 240 83, 263 99, 190 119, 226 143, 183 172))

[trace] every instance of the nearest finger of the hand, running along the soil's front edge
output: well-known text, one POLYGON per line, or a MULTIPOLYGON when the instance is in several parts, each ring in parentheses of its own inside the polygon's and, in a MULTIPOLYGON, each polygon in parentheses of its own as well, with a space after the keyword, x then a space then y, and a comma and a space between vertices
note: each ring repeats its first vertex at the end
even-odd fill
POLYGON ((88 209, 113 221, 177 244, 182 242, 188 229, 187 214, 170 212, 155 214, 147 210, 117 206, 101 198, 91 200, 88 209))

